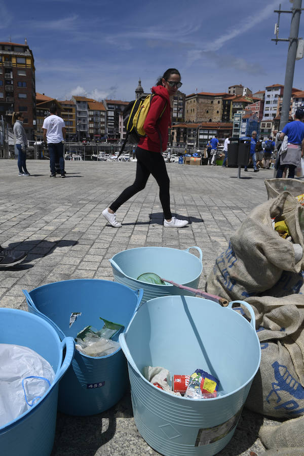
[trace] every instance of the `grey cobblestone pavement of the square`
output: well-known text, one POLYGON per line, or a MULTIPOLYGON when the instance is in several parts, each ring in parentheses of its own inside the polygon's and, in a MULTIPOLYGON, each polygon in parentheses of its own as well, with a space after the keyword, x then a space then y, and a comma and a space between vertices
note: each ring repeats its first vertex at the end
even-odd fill
MULTIPOLYGON (((22 264, 0 270, 0 307, 22 310, 27 310, 22 289, 67 279, 112 280, 108 259, 140 246, 201 247, 203 287, 231 234, 267 199, 264 178, 273 177, 271 170, 249 169, 239 179, 237 169, 168 164, 172 212, 188 217, 189 225, 163 227, 158 186, 150 178, 118 211, 123 227, 113 229, 101 212, 133 181, 135 163, 65 162, 66 179, 50 179, 48 161, 30 160, 27 165, 31 176, 18 177, 17 161, 0 162, 0 243, 28 252, 22 264)), ((99 415, 58 413, 52 456, 158 454, 140 437, 132 416, 129 393, 99 415)), ((244 410, 233 439, 218 454, 263 454, 257 437, 263 421, 269 422, 244 410)))

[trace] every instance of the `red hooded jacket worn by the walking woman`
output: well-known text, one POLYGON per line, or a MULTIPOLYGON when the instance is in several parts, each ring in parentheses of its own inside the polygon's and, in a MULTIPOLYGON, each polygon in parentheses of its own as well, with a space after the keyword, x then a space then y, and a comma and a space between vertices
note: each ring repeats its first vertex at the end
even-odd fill
POLYGON ((170 97, 168 90, 163 86, 152 87, 152 93, 154 93, 155 96, 152 98, 143 125, 146 136, 140 138, 138 146, 142 149, 150 150, 151 152, 163 152, 167 149, 169 136, 168 128, 171 127, 170 97), (166 109, 160 118, 165 105, 166 109), (162 144, 160 144, 159 132, 162 136, 162 144))

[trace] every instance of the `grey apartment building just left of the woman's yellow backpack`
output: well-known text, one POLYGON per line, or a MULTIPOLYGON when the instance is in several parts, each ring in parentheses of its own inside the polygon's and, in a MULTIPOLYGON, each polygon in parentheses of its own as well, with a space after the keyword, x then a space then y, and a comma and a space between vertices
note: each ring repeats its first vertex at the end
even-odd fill
POLYGON ((129 101, 103 101, 103 105, 106 109, 106 136, 108 141, 121 141, 126 137, 126 131, 123 124, 123 111, 128 104, 129 101))

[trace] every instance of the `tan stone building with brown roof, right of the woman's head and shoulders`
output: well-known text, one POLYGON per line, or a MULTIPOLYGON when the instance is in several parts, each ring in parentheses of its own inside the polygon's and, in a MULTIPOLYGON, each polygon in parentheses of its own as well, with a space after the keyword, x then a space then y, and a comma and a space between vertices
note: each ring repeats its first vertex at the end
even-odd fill
POLYGON ((231 95, 200 92, 185 96, 185 122, 225 122, 229 120, 231 95))

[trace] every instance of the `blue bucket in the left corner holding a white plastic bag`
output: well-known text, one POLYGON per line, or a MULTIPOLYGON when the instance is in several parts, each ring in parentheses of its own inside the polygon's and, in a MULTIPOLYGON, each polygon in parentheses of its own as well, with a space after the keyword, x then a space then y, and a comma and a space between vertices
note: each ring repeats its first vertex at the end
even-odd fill
POLYGON ((49 456, 55 437, 58 382, 73 358, 74 341, 66 337, 61 342, 53 327, 35 315, 3 308, 0 309, 0 343, 34 350, 55 372, 54 381, 42 399, 16 420, 0 427, 0 453, 49 456))

